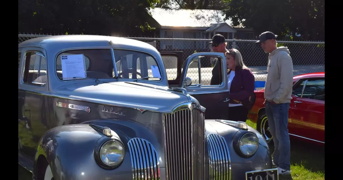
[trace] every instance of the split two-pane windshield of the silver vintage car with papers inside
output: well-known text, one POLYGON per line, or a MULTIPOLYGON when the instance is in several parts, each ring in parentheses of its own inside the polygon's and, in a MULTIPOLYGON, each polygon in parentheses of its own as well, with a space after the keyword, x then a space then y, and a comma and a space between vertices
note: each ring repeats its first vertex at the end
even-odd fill
POLYGON ((114 49, 116 77, 111 49, 78 49, 61 53, 56 59, 60 80, 76 79, 143 79, 161 80, 161 70, 150 55, 132 50, 114 49))

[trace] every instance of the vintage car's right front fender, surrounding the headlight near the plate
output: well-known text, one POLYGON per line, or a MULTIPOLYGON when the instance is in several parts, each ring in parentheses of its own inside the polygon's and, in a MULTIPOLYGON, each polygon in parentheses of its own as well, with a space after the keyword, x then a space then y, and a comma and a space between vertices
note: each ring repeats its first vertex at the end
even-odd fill
MULTIPOLYGON (((205 120, 205 127, 206 127, 206 151, 208 151, 208 156, 211 156, 209 149, 220 149, 219 152, 214 152, 214 156, 218 156, 222 154, 226 157, 225 154, 229 156, 229 169, 231 172, 229 173, 232 179, 245 179, 245 172, 246 171, 254 171, 254 170, 262 170, 262 169, 270 169, 272 168, 272 158, 270 155, 270 149, 267 142, 263 139, 261 134, 257 132, 252 127, 247 126, 247 129, 240 128, 238 125, 230 125, 230 124, 237 124, 235 121, 220 121, 215 119, 205 120), (227 123, 228 122, 228 123, 227 123), (255 154, 250 157, 241 156, 237 152, 238 143, 237 139, 241 137, 243 134, 251 132, 257 135, 259 144, 255 154), (211 134, 211 135, 210 135, 211 134), (210 137, 211 136, 211 137, 210 137), (209 143, 212 139, 212 142, 209 143), (224 140, 226 142, 227 148, 225 149, 223 143, 218 143, 219 140, 224 140), (211 147, 212 146, 212 147, 211 147), (236 146, 236 147, 235 147, 236 146), (226 152, 227 151, 227 152, 226 152)), ((245 123, 244 123, 245 124, 245 123)), ((217 158, 217 157, 215 157, 217 158)), ((214 159, 215 159, 214 158, 214 159)), ((211 162, 211 157, 206 157, 206 168, 209 168, 211 171, 211 163, 217 166, 223 166, 222 168, 225 169, 224 164, 225 160, 223 160, 223 165, 221 162, 215 163, 215 161, 211 162)), ((213 171, 213 170, 212 170, 213 171)))

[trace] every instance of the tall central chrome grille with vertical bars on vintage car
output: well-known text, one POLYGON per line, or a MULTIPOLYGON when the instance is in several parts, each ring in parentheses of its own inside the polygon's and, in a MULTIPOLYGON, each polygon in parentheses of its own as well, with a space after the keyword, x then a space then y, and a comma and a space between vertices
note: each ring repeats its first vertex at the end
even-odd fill
POLYGON ((167 180, 204 180, 205 121, 198 109, 164 116, 167 180))

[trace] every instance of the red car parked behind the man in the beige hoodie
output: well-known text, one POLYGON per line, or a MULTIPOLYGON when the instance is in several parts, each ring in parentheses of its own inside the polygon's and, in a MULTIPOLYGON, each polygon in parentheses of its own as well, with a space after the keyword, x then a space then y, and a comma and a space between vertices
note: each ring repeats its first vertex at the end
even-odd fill
MULTIPOLYGON (((325 73, 308 73, 293 77, 293 93, 288 111, 288 132, 297 139, 325 144, 325 73)), ((272 143, 268 117, 264 109, 264 89, 255 90, 256 101, 248 118, 257 130, 272 143)))

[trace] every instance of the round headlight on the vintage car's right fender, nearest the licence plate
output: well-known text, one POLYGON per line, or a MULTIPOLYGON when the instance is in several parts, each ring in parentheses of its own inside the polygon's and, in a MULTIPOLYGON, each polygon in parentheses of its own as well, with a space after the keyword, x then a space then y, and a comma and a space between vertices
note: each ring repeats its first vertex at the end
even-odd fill
POLYGON ((254 133, 246 133, 240 138, 238 146, 243 155, 251 156, 257 151, 258 137, 254 133))

